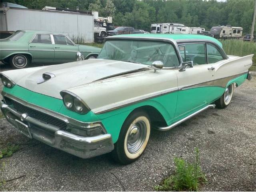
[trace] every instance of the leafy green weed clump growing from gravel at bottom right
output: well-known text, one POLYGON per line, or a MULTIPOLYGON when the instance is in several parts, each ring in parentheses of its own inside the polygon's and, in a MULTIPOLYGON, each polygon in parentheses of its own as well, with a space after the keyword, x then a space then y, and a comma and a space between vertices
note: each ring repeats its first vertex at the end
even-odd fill
POLYGON ((206 183, 206 177, 200 168, 199 150, 195 149, 195 160, 190 163, 182 158, 174 158, 176 170, 173 175, 154 187, 156 191, 198 191, 206 183))

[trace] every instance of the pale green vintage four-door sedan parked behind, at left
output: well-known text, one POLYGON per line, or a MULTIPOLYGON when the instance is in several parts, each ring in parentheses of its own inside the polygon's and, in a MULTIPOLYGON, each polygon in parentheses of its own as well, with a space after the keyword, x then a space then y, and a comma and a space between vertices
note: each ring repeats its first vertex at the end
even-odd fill
POLYGON ((47 31, 19 30, 0 40, 0 61, 14 69, 26 68, 30 63, 66 63, 97 58, 100 48, 75 44, 67 35, 47 31))

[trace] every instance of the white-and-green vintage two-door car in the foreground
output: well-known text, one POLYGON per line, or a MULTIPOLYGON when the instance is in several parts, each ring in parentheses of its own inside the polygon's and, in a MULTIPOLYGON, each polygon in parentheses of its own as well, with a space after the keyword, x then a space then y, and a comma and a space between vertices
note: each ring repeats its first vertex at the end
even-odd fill
POLYGON ((112 151, 128 164, 151 128, 228 106, 251 78, 252 56, 227 56, 201 35, 111 36, 98 59, 1 72, 1 110, 29 138, 81 158, 112 151))

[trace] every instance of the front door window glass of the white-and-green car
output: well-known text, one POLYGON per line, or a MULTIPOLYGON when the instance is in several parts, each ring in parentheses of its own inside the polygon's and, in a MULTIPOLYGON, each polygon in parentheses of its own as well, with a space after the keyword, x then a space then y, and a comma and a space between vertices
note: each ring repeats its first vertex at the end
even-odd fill
POLYGON ((194 65, 206 64, 204 43, 191 43, 179 47, 183 62, 193 61, 194 65))

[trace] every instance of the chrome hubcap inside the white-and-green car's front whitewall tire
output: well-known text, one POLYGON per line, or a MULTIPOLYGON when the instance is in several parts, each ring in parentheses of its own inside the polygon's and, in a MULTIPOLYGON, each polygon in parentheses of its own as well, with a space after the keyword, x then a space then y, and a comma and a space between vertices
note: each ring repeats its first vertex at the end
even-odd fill
POLYGON ((146 140, 147 127, 144 121, 138 121, 132 126, 127 138, 127 149, 134 154, 140 150, 146 140))

